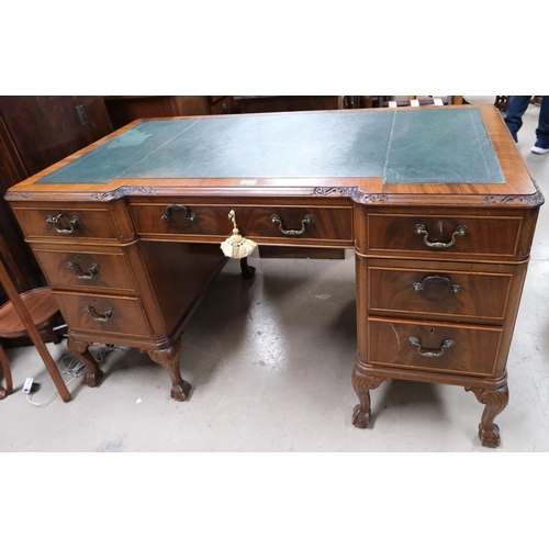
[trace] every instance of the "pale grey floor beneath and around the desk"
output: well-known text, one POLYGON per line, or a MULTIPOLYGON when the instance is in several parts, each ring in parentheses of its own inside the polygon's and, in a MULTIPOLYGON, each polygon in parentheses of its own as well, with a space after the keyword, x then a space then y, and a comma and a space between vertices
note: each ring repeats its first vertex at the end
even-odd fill
MULTIPOLYGON (((492 97, 467 97, 493 102, 492 97)), ((549 155, 529 152, 539 108, 530 105, 518 148, 549 197, 549 155)), ((72 401, 34 406, 25 378, 55 388, 33 347, 9 349, 15 393, 0 402, 0 451, 547 451, 549 450, 549 206, 541 208, 508 359, 511 400, 498 417, 502 447, 477 437, 482 405, 448 385, 405 381, 372 392, 373 428, 351 425, 357 397, 355 264, 345 260, 260 259, 254 281, 229 262, 183 335, 181 371, 188 402, 169 397, 169 378, 138 350, 116 348, 101 386, 77 378, 72 401)), ((65 344, 48 345, 63 368, 65 344)), ((67 378, 68 381, 68 378, 67 378)))

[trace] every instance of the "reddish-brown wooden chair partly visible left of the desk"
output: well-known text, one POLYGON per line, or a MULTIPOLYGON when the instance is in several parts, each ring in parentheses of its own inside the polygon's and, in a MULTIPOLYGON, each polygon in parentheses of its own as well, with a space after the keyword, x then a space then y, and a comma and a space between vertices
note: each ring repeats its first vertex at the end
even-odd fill
MULTIPOLYGON (((70 393, 40 334, 42 330, 48 334, 54 341, 59 340, 54 333, 54 323, 59 317, 59 307, 49 288, 29 289, 29 284, 13 260, 2 235, 0 235, 0 284, 10 300, 0 306, 0 338, 29 336, 44 360, 61 399, 68 402, 70 393), (23 293, 20 294, 12 278, 23 293)), ((0 386, 1 400, 13 392, 10 365, 1 345, 0 365, 7 385, 5 389, 0 386)))

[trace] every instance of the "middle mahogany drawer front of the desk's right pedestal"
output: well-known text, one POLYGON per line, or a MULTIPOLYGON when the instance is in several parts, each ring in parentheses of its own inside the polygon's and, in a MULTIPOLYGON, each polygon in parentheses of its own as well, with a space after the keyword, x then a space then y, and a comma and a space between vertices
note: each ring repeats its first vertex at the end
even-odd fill
POLYGON ((512 273, 368 267, 368 311, 503 322, 512 281, 512 273))

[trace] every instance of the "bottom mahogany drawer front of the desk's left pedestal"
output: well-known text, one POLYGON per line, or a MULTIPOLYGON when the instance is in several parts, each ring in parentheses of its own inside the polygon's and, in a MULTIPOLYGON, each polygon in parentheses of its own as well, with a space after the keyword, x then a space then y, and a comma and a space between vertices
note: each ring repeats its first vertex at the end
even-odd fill
POLYGON ((150 336, 137 298, 113 298, 54 292, 63 316, 72 330, 150 336))

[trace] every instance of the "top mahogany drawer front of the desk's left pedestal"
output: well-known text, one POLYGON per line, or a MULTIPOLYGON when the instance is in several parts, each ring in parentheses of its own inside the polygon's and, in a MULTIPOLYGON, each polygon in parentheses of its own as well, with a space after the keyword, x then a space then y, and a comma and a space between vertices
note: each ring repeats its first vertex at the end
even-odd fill
POLYGON ((26 238, 116 238, 107 209, 14 208, 26 238))

